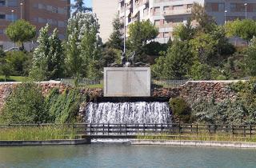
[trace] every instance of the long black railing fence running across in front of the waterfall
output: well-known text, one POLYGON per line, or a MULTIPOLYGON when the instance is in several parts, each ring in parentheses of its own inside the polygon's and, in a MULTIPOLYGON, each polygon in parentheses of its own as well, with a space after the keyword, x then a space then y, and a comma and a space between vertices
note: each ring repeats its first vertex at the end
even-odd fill
POLYGON ((204 124, 10 124, 0 125, 1 129, 34 126, 69 126, 78 134, 87 135, 157 135, 157 134, 230 134, 252 137, 256 125, 204 125, 204 124))

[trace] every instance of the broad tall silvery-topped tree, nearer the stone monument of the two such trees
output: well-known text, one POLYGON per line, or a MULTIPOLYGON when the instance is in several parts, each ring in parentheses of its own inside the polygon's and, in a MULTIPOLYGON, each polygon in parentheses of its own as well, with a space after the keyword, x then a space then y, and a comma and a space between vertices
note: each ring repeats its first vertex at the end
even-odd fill
MULTIPOLYGON (((91 77, 98 71, 100 56, 98 19, 91 12, 78 12, 69 19, 66 42, 66 67, 72 77, 91 77)), ((97 74, 97 73, 96 73, 97 74)))

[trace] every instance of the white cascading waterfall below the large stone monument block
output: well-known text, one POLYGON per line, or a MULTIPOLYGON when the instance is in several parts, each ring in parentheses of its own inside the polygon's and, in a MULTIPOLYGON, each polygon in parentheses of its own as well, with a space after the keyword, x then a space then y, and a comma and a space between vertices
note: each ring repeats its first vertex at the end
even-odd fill
POLYGON ((90 102, 86 123, 170 123, 167 102, 90 102))

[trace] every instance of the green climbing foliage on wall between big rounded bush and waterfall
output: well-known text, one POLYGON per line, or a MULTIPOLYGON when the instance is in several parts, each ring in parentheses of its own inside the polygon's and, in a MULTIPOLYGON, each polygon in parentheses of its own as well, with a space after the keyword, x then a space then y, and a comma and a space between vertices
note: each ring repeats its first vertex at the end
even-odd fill
POLYGON ((77 89, 66 90, 63 94, 59 94, 56 89, 51 90, 46 98, 46 110, 49 111, 50 122, 77 122, 79 105, 82 100, 77 89))

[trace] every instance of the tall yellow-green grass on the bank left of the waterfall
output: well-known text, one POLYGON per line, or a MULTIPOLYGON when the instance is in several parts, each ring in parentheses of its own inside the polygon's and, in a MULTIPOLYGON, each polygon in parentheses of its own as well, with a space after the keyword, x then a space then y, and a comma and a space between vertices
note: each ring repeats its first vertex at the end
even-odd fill
POLYGON ((68 126, 18 126, 0 128, 1 141, 46 141, 75 139, 76 131, 68 126))

